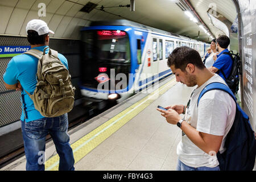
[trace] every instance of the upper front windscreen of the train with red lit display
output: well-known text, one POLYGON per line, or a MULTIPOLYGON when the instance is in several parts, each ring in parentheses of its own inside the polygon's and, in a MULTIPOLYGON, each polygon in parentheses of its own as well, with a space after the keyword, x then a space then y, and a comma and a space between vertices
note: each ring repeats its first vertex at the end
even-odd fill
POLYGON ((112 61, 112 63, 130 63, 130 43, 125 31, 85 31, 84 39, 83 42, 90 43, 90 45, 86 46, 86 51, 89 51, 86 52, 88 57, 94 55, 94 59, 97 57, 98 60, 108 60, 112 61), (91 36, 96 38, 93 42, 88 40, 91 36))

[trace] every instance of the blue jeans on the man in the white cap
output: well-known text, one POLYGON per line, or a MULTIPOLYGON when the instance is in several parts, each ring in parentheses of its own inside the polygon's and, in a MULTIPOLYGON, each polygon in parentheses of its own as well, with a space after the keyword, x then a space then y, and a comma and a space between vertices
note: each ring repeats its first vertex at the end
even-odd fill
POLYGON ((42 118, 22 123, 27 171, 44 171, 46 135, 49 133, 60 156, 59 170, 75 170, 73 151, 69 144, 68 114, 54 118, 42 118))

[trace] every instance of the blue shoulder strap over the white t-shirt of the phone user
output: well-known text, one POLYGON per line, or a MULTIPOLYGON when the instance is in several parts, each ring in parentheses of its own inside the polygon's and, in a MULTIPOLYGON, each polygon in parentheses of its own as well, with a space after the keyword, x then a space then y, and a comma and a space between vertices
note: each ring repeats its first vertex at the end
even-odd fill
POLYGON ((199 101, 200 101, 201 97, 210 90, 222 90, 222 91, 228 93, 233 98, 233 100, 237 103, 236 97, 234 96, 233 92, 229 89, 228 86, 226 86, 225 84, 222 84, 221 82, 212 82, 212 83, 208 84, 207 86, 205 86, 205 88, 199 94, 199 97, 197 100, 197 107, 199 105, 199 101))

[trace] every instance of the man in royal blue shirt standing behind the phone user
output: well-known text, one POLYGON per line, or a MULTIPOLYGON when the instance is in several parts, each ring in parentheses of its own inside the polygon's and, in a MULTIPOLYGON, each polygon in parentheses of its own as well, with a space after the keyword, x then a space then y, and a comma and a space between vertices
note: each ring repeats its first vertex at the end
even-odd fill
POLYGON ((210 72, 217 73, 224 80, 228 78, 232 71, 233 60, 229 55, 224 54, 224 52, 229 52, 228 46, 230 44, 230 39, 226 35, 221 35, 216 39, 218 52, 217 60, 208 68, 210 72), (223 75, 224 73, 224 75, 223 75))

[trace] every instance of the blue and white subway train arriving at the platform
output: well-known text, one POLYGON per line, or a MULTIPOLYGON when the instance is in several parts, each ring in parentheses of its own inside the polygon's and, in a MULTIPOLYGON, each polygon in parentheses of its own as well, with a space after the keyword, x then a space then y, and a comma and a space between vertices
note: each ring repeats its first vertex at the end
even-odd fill
POLYGON ((81 94, 121 102, 170 76, 167 59, 180 46, 203 57, 210 45, 129 20, 92 22, 81 29, 81 94))

